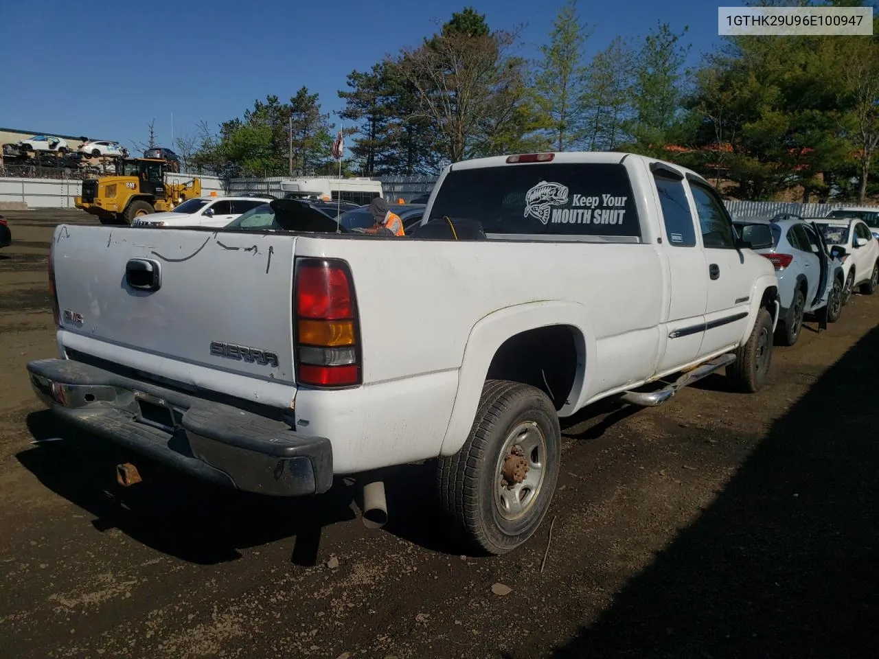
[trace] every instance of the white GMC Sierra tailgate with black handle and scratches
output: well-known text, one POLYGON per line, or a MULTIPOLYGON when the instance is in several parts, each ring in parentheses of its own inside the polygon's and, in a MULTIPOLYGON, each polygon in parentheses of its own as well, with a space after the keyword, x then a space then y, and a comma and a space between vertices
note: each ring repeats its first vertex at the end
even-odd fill
POLYGON ((294 382, 294 236, 61 225, 53 241, 62 329, 294 382))

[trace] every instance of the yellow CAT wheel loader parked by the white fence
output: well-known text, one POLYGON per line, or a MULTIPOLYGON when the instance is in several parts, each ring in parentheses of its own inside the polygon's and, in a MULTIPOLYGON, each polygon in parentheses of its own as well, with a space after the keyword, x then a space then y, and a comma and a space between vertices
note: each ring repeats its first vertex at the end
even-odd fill
POLYGON ((117 166, 116 176, 83 181, 76 207, 97 215, 101 224, 131 224, 135 217, 170 211, 186 199, 201 196, 201 179, 165 181, 167 163, 156 158, 132 158, 117 166))

